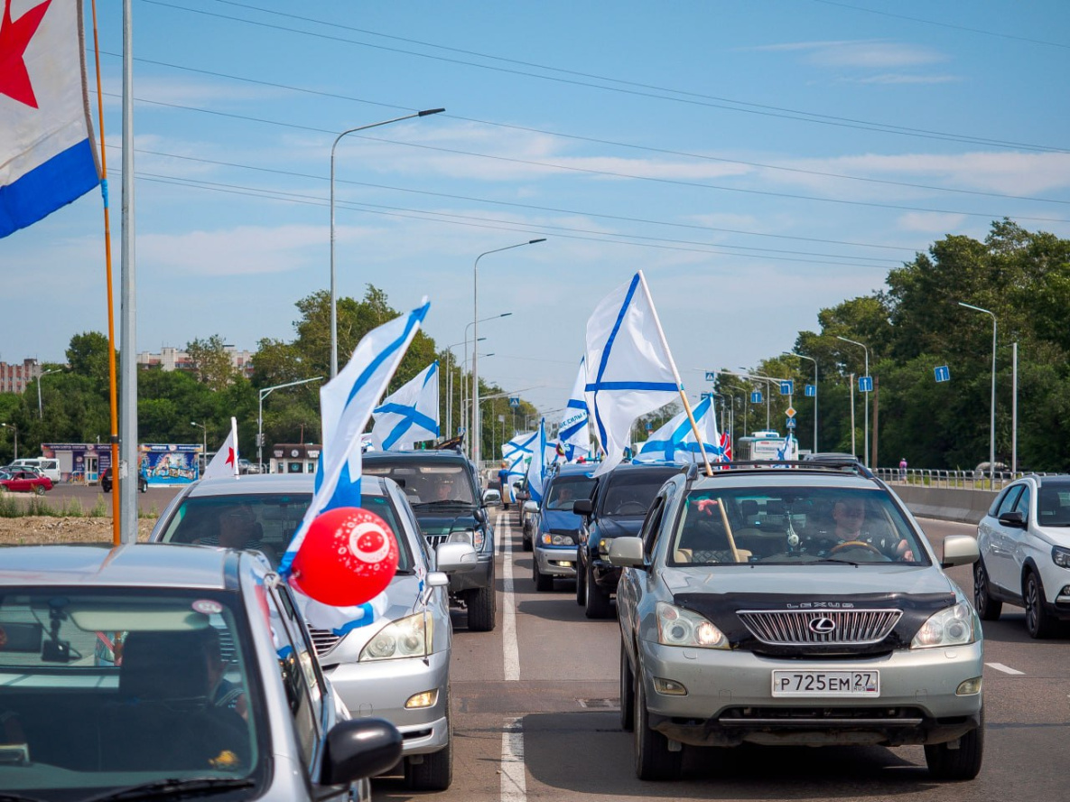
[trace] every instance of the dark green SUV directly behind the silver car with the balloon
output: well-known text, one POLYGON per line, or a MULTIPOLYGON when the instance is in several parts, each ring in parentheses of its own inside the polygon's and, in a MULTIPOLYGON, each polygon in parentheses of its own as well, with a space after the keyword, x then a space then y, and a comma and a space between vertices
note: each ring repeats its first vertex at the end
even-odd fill
POLYGON ((470 630, 493 630, 494 530, 472 463, 457 451, 381 451, 364 455, 363 470, 401 486, 430 546, 470 543, 475 548, 478 566, 449 577, 449 596, 468 609, 470 630))

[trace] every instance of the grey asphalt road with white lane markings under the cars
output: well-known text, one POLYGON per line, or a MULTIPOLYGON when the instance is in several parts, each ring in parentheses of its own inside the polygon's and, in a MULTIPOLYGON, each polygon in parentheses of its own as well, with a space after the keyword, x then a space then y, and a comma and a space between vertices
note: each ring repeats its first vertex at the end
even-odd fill
MULTIPOLYGON (((152 490, 150 490, 150 495, 152 490)), ((974 527, 923 520, 939 550, 947 534, 974 527)), ((516 511, 495 524, 499 618, 491 633, 455 619, 452 685, 454 783, 412 793, 400 780, 373 783, 380 800, 1064 800, 1070 736, 1067 639, 1030 640, 1024 614, 1005 607, 985 622, 984 768, 968 783, 930 780, 920 746, 688 750, 685 776, 644 783, 632 769, 630 733, 617 717, 618 627, 590 621, 576 585, 535 591, 520 550, 516 511)), ((952 578, 972 593, 969 568, 952 578)))

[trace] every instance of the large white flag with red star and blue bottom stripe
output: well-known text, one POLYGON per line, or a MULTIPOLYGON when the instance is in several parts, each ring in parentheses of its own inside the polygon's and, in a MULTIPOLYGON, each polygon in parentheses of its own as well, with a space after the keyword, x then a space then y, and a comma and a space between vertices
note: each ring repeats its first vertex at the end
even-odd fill
POLYGON ((3 0, 0 237, 36 223, 100 183, 81 2, 3 0))

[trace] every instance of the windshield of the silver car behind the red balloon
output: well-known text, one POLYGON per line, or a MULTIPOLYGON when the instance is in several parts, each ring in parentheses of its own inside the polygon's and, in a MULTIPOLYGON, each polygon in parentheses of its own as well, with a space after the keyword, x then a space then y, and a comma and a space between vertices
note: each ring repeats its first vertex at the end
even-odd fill
MULTIPOLYGON (((293 540, 312 497, 307 493, 246 493, 226 496, 187 496, 171 515, 160 540, 201 546, 251 548, 262 551, 274 568, 293 540)), ((394 505, 386 496, 365 494, 361 506, 401 532, 394 505)), ((398 571, 412 569, 408 540, 398 539, 398 571)))

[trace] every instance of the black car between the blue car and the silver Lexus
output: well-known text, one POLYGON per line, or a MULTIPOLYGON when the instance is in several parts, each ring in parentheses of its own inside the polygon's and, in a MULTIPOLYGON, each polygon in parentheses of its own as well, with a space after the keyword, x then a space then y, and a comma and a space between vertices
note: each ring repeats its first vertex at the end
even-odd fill
POLYGON ((614 538, 635 536, 658 489, 683 467, 666 464, 618 465, 598 478, 590 501, 577 501, 583 516, 576 563, 576 603, 587 618, 609 618, 610 596, 616 592, 621 569, 610 565, 614 538))

